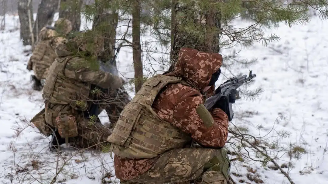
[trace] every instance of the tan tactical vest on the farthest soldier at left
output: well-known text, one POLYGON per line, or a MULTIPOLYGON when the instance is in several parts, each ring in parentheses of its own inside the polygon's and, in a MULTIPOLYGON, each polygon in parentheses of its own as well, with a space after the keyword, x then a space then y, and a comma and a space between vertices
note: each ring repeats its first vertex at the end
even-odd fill
POLYGON ((41 40, 34 48, 31 62, 33 63, 33 71, 40 79, 46 79, 47 69, 51 66, 57 55, 51 40, 41 40))

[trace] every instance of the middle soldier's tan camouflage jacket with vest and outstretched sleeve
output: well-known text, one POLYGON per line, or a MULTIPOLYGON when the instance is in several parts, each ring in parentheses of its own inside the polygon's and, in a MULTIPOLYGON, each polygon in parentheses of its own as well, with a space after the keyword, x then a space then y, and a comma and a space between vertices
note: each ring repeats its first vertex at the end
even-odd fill
POLYGON ((49 69, 42 94, 51 104, 71 104, 74 107, 76 100, 88 100, 92 84, 104 89, 122 86, 118 76, 92 70, 88 61, 75 55, 65 42, 57 45, 56 54, 58 58, 49 69))

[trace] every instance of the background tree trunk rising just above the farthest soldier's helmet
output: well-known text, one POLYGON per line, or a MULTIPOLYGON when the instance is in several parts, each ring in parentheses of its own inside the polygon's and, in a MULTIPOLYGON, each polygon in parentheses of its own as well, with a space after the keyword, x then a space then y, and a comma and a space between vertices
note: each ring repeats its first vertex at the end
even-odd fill
POLYGON ((59 18, 70 20, 74 31, 80 30, 82 3, 83 0, 60 1, 59 18))

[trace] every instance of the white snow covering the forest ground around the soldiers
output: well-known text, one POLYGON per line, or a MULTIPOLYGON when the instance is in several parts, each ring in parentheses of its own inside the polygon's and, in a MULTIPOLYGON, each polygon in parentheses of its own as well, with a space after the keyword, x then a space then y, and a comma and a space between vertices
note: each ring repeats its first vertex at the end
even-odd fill
MULTIPOLYGON (((43 101, 41 92, 31 90, 32 72, 26 70, 31 52, 30 47, 22 46, 20 41, 18 18, 8 17, 6 23, 6 30, 0 32, 0 182, 48 184, 65 161, 67 163, 57 177, 58 183, 99 184, 103 178, 114 180, 111 177, 114 175, 113 160, 108 154, 74 150, 51 153, 47 149, 48 138, 40 135, 36 128, 27 126, 43 108, 43 101)), ((235 103, 236 115, 232 124, 248 126, 250 134, 258 137, 269 132, 265 138, 269 142, 279 141, 286 149, 290 144, 304 148, 306 153, 298 160, 283 153, 279 153, 281 158, 277 160, 279 165, 292 162, 293 168, 283 170, 296 184, 328 183, 328 161, 325 159, 328 39, 325 31, 328 31, 328 22, 317 18, 308 25, 292 28, 282 25, 267 30, 266 33, 276 33, 281 40, 269 44, 268 48, 259 43, 243 49, 238 53, 240 58, 257 58, 258 63, 250 68, 230 68, 234 74, 247 74, 252 69, 257 77, 251 88, 264 88, 256 100, 242 98, 235 103), (278 118, 280 116, 284 118, 278 118), (258 125, 263 125, 262 130, 257 130, 258 125), (272 128, 274 131, 270 131, 272 128), (290 136, 272 137, 282 130, 290 132, 290 136)), ((118 55, 119 70, 122 75, 132 77, 132 51, 124 48, 118 55)), ((161 50, 161 47, 156 48, 161 50)), ((230 52, 223 50, 226 54, 230 52)), ((153 57, 157 60, 161 56, 153 57)), ((223 72, 228 74, 226 70, 223 72)), ((218 85, 226 80, 220 78, 218 85)), ((279 170, 270 169, 273 168, 271 165, 268 162, 269 167, 263 169, 259 164, 253 164, 250 169, 245 163, 236 162, 231 169, 235 173, 232 177, 237 183, 256 183, 250 180, 253 175, 258 175, 267 184, 289 183, 279 170)))

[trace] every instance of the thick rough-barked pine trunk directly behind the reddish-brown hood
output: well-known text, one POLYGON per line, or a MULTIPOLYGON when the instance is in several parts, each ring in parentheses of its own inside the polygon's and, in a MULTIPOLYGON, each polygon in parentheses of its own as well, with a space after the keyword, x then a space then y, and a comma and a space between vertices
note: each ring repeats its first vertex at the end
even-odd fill
MULTIPOLYGON (((214 1, 215 2, 215 1, 214 1)), ((219 32, 220 28, 219 12, 215 8, 209 8, 207 10, 201 10, 198 16, 192 17, 195 24, 201 24, 203 31, 206 32, 206 37, 200 39, 199 37, 191 36, 183 31, 181 28, 180 20, 177 18, 179 12, 188 11, 189 7, 186 7, 173 0, 172 6, 172 27, 171 27, 171 63, 169 71, 173 71, 174 64, 178 59, 179 50, 182 47, 194 48, 198 51, 218 53, 219 52, 219 32)), ((185 17, 187 19, 187 17, 185 17)), ((190 19, 190 17, 188 17, 190 19)))

